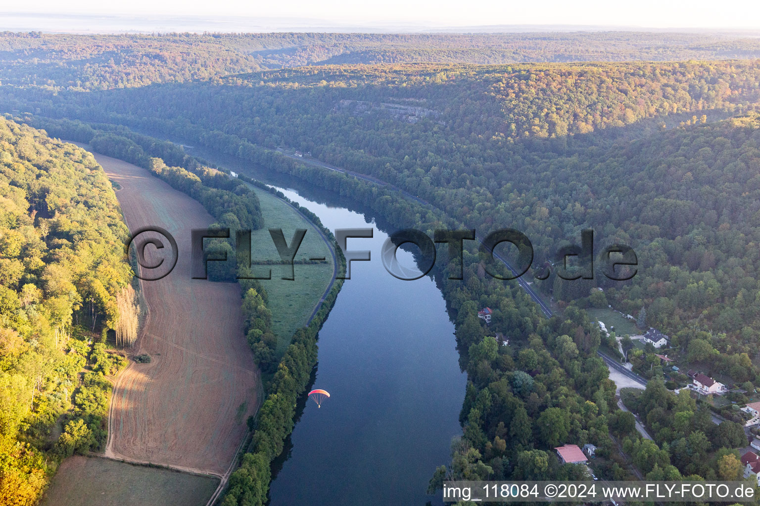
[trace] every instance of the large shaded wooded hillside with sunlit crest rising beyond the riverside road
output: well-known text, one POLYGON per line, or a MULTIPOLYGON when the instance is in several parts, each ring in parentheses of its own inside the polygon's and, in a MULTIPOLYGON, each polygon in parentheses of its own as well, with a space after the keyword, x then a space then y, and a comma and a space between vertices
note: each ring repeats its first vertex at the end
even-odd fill
MULTIPOLYGON (((754 240, 745 218, 757 211, 756 121, 708 123, 755 110, 753 62, 331 66, 227 81, 37 103, 41 112, 163 130, 256 162, 261 149, 312 152, 483 233, 519 228, 534 243, 534 265, 594 228, 600 248, 630 244, 652 267, 624 286, 599 281, 619 310, 647 306, 648 322, 672 334, 685 322, 714 330, 716 347, 733 354, 758 340, 755 316, 736 311, 755 300, 760 266, 752 255, 738 266, 732 259, 754 240), (163 118, 151 115, 156 108, 163 118)), ((542 288, 565 303, 591 288, 554 281, 542 288)))

